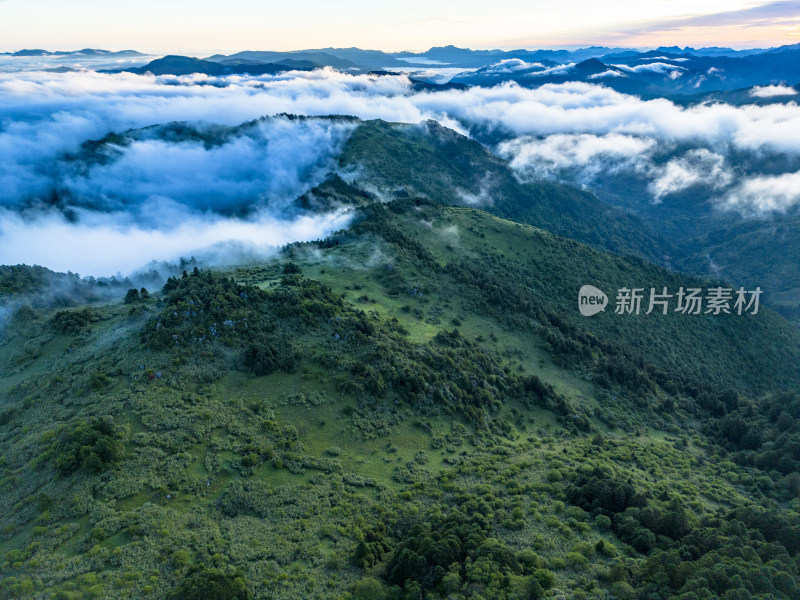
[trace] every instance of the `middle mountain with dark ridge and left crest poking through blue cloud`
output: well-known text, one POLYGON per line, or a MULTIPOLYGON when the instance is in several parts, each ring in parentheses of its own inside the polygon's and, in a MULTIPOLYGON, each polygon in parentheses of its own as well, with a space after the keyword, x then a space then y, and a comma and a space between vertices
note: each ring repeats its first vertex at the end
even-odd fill
MULTIPOLYGON (((147 70, 148 67, 142 67, 142 72, 147 70)), ((505 159, 435 121, 408 125, 382 120, 326 118, 357 125, 341 154, 335 157, 338 171, 348 179, 351 176, 346 174, 356 173, 354 183, 357 186, 384 197, 422 194, 443 205, 477 206, 597 248, 636 255, 663 265, 670 264, 675 252, 644 221, 601 202, 590 193, 558 183, 520 183, 505 159)), ((112 133, 87 141, 80 152, 67 159, 74 163, 75 169, 82 170, 95 163, 113 162, 122 148, 135 141, 153 139, 216 147, 240 137, 257 136, 260 123, 267 120, 269 118, 235 127, 174 122, 112 133)), ((249 207, 232 206, 230 210, 232 214, 247 214, 248 209, 258 208, 255 201, 253 198, 249 207)), ((80 199, 73 198, 71 202, 79 203, 80 199)), ((225 199, 215 202, 226 205, 225 199)), ((323 207, 321 210, 335 208, 330 202, 319 199, 312 204, 319 204, 323 207)))

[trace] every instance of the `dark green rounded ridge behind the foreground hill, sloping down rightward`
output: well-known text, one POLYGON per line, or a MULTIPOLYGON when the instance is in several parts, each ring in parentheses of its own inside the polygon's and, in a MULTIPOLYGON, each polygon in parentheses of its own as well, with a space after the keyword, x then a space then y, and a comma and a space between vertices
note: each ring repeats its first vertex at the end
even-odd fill
POLYGON ((345 145, 340 165, 357 183, 394 194, 421 194, 473 205, 617 254, 668 264, 673 250, 644 221, 588 192, 557 183, 523 184, 503 159, 435 121, 367 121, 345 145))

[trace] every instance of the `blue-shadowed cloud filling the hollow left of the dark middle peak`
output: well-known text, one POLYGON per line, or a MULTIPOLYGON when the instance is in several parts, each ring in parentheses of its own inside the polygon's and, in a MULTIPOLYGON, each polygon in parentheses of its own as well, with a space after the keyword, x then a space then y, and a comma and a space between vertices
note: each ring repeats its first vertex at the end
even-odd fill
POLYGON ((335 168, 355 123, 270 119, 220 146, 134 141, 108 164, 93 165, 63 185, 81 203, 138 206, 168 198, 197 210, 277 210, 335 168))

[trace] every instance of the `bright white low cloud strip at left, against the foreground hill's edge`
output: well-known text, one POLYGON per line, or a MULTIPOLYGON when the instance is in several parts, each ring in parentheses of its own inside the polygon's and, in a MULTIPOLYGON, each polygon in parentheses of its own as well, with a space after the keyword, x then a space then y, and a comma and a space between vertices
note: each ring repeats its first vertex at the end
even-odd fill
POLYGON ((81 211, 68 221, 54 211, 35 216, 0 211, 0 264, 39 264, 81 275, 127 274, 149 261, 249 253, 268 256, 294 241, 321 239, 345 227, 350 214, 335 212, 282 219, 262 212, 248 220, 152 207, 162 227, 132 220, 127 213, 81 211))

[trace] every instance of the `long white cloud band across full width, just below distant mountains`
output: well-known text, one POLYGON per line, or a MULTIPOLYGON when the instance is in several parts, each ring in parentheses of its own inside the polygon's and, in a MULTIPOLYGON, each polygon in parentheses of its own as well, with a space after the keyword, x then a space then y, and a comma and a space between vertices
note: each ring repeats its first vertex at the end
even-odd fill
POLYGON ((800 152, 800 136, 793 136, 795 142, 789 143, 769 127, 773 123, 781 129, 800 125, 796 106, 683 108, 664 99, 641 100, 578 82, 535 89, 510 83, 415 93, 403 75, 353 76, 330 70, 227 78, 91 72, 0 74, 0 106, 6 120, 35 121, 37 130, 57 140, 65 137, 60 134, 64 130, 60 120, 67 116, 83 120, 82 127, 67 128, 62 146, 157 122, 206 120, 236 125, 262 115, 292 112, 407 123, 449 117, 468 127, 493 126, 520 135, 614 132, 800 152), (48 127, 51 123, 57 126, 48 127))

